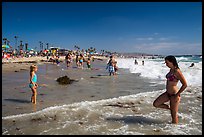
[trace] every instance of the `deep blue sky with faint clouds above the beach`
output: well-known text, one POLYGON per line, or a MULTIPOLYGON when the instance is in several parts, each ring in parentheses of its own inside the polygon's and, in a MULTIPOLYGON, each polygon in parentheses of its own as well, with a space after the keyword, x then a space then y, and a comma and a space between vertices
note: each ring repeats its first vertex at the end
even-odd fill
POLYGON ((38 50, 202 54, 202 2, 2 2, 2 39, 14 36, 38 50))

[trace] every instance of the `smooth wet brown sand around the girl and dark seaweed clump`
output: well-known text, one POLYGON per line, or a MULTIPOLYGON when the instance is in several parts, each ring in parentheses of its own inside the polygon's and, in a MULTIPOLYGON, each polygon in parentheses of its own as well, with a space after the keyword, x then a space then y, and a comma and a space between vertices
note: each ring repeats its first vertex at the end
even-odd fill
MULTIPOLYGON (((92 70, 67 68, 65 63, 60 66, 52 63, 37 62, 38 65, 38 95, 37 105, 30 102, 31 90, 29 83, 29 66, 32 63, 3 64, 2 73, 2 116, 29 113, 43 108, 70 104, 81 101, 91 101, 134 94, 148 91, 149 80, 119 70, 118 75, 108 76, 107 60, 92 62, 92 70), (67 75, 78 82, 70 85, 59 85, 57 78, 67 75), (137 89, 137 90, 136 90, 137 89), (139 89, 139 90, 138 90, 139 89)), ((164 86, 157 86, 163 89, 164 86)))

